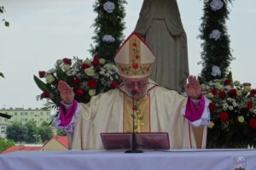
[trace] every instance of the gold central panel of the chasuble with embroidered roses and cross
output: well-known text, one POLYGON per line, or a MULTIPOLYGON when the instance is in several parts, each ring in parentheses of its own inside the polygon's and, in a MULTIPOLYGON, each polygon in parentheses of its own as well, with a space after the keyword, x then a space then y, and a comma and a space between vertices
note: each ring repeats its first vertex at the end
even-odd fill
POLYGON ((124 99, 124 120, 123 128, 125 133, 132 132, 132 112, 134 110, 134 132, 148 133, 150 132, 150 98, 145 95, 142 99, 134 100, 132 105, 131 97, 125 95, 124 99))

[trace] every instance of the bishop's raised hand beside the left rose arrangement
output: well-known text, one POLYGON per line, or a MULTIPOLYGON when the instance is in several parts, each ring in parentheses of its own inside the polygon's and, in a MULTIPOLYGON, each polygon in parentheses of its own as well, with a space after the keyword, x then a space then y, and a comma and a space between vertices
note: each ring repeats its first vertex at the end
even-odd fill
POLYGON ((71 88, 67 82, 58 82, 58 90, 61 95, 61 99, 65 104, 72 104, 74 99, 73 88, 71 88))

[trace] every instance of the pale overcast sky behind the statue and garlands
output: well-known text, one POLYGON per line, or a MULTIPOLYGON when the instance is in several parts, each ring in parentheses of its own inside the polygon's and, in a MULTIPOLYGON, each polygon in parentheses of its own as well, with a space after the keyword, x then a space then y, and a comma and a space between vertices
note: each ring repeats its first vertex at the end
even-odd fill
MULTIPOLYGON (((94 0, 2 0, 6 8, 0 14, 9 20, 10 26, 0 25, 0 108, 42 107, 36 101, 41 91, 33 81, 38 71, 48 71, 56 59, 78 56, 90 57, 88 50, 94 36, 91 27, 96 13, 94 0)), ((136 26, 143 0, 127 0, 125 5, 125 37, 136 26)), ((188 35, 189 71, 193 75, 201 72, 201 40, 199 26, 203 14, 203 1, 177 0, 183 27, 188 35)), ((230 5, 230 48, 236 58, 230 65, 233 78, 256 85, 256 0, 236 0, 230 5)))

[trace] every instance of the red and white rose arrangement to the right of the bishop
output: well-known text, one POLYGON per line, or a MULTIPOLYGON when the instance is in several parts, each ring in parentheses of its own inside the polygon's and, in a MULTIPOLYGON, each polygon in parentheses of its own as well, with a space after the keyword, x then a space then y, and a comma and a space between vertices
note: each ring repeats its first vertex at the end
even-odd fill
POLYGON ((215 79, 201 84, 211 100, 208 148, 244 148, 256 144, 256 89, 250 83, 215 79))

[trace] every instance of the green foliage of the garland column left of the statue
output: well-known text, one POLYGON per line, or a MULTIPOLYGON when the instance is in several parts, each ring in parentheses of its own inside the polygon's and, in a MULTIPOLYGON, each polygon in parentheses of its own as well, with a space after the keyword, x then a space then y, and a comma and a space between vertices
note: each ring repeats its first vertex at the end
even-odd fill
POLYGON ((95 47, 91 45, 90 54, 92 56, 99 56, 108 61, 113 61, 113 56, 116 53, 119 45, 124 40, 123 30, 125 29, 125 0, 113 0, 114 9, 112 13, 108 13, 104 8, 104 3, 108 0, 96 0, 94 11, 97 13, 95 23, 96 36, 92 37, 95 42, 95 47), (104 42, 102 37, 111 35, 115 40, 114 42, 104 42))

